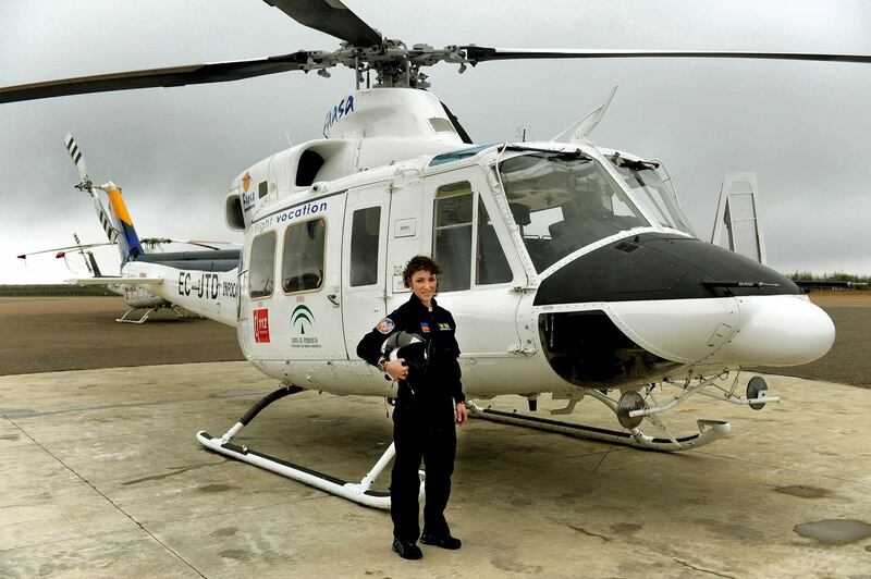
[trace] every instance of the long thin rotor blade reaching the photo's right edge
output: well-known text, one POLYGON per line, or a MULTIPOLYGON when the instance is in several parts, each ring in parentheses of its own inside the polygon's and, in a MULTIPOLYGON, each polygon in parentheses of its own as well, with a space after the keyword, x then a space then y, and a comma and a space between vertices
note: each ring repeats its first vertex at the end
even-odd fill
POLYGON ((600 50, 600 49, 525 49, 461 47, 473 63, 490 60, 531 59, 762 59, 762 60, 812 60, 832 62, 871 63, 869 54, 834 54, 822 52, 753 52, 745 50, 600 50))

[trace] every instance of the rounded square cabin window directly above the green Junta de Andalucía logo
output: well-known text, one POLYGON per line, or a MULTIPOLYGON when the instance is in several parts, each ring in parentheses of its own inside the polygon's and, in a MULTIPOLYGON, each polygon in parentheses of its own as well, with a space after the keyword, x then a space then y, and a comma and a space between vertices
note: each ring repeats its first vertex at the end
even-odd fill
POLYGON ((285 293, 308 292, 323 285, 323 248, 327 223, 314 219, 284 232, 281 286, 285 293))

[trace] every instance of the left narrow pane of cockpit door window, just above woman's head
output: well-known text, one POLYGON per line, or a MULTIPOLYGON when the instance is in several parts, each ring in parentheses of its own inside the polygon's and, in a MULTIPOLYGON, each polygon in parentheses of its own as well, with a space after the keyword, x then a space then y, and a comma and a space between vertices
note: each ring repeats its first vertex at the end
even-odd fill
POLYGON ((432 257, 442 270, 440 292, 469 288, 473 207, 468 181, 442 185, 436 192, 432 257))

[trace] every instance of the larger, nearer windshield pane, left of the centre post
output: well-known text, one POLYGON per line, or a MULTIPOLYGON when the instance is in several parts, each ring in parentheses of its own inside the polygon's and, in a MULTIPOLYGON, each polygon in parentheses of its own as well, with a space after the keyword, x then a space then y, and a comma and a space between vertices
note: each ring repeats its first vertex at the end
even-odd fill
POLYGON ((499 164, 524 244, 543 271, 568 254, 650 224, 598 162, 580 152, 533 152, 499 164))

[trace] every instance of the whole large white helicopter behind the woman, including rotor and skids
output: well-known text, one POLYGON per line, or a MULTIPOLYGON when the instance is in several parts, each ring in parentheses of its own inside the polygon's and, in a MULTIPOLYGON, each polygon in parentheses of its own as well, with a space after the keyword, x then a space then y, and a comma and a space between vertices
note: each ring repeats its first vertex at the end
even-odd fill
POLYGON ((393 456, 358 483, 232 442, 265 407, 304 389, 392 397, 395 384, 355 356, 376 321, 408 298, 401 272, 417 254, 443 269, 440 299, 459 321, 468 398, 550 393, 568 414, 585 396, 614 411, 622 431, 506 415, 473 416, 658 451, 683 451, 729 432, 698 420, 677 438, 660 416, 690 396, 759 409, 778 398, 760 377, 745 393, 729 372, 812 361, 835 329, 777 272, 702 242, 662 163, 597 147, 588 136, 606 102, 554 140, 475 145, 426 90, 426 66, 554 58, 746 58, 871 62, 832 53, 526 50, 474 45, 408 48, 339 0, 267 0, 340 38, 334 51, 107 74, 0 88, 0 102, 236 81, 343 64, 356 90, 338 98, 322 139, 277 152, 233 180, 225 218, 245 232, 237 267, 203 271, 125 256, 119 282, 145 285, 236 328, 246 358, 281 386, 206 447, 368 506, 393 456), (663 396, 661 391, 671 391, 663 396), (662 432, 646 434, 647 421, 662 432))

